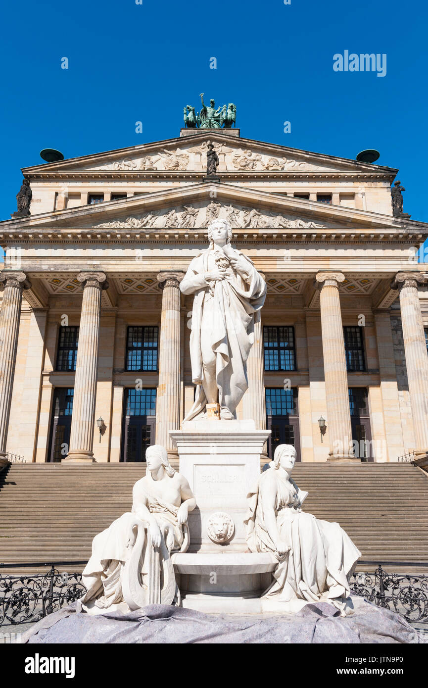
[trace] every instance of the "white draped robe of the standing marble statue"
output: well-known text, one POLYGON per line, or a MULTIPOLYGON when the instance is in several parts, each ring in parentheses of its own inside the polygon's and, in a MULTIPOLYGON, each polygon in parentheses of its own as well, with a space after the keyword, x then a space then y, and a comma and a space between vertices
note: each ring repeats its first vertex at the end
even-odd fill
POLYGON ((237 257, 241 255, 246 259, 248 274, 241 277, 229 267, 225 279, 216 281, 210 290, 204 280, 204 273, 215 268, 212 257, 217 251, 219 249, 216 246, 215 251, 210 248, 193 258, 180 283, 183 294, 195 294, 190 355, 192 380, 197 389, 195 403, 184 420, 191 420, 203 413, 206 406, 202 387, 202 326, 204 341, 209 339, 211 350, 215 353, 215 377, 220 392, 220 405, 222 398, 226 398, 228 409, 232 413, 235 411, 248 389, 246 361, 254 342, 254 314, 261 309, 266 297, 266 282, 255 269, 253 261, 236 250, 237 257))

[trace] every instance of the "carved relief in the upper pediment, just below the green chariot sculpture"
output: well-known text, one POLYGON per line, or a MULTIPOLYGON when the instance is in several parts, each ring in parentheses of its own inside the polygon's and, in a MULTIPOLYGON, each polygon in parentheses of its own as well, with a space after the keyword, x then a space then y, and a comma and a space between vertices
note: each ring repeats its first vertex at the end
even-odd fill
MULTIPOLYGON (((178 147, 176 149, 161 149, 159 151, 139 157, 125 157, 115 160, 103 166, 89 166, 85 169, 98 169, 102 171, 204 171, 206 168, 206 151, 209 140, 203 141, 197 146, 178 147)), ((211 140, 217 153, 220 172, 280 172, 280 171, 320 171, 331 169, 328 166, 313 164, 307 160, 295 160, 294 158, 273 157, 269 153, 228 146, 224 141, 211 140)))

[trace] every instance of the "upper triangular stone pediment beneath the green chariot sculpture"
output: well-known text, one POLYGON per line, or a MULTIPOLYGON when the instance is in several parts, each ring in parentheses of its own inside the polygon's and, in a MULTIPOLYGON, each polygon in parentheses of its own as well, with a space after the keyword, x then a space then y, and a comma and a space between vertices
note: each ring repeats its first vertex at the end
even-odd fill
POLYGON ((339 158, 322 153, 312 153, 277 144, 225 133, 202 131, 193 136, 177 137, 153 143, 132 146, 116 151, 69 158, 23 169, 27 176, 43 176, 65 173, 91 173, 103 175, 123 173, 145 175, 150 173, 197 173, 206 168, 208 142, 219 157, 218 172, 223 173, 383 173, 394 178, 396 170, 339 158))

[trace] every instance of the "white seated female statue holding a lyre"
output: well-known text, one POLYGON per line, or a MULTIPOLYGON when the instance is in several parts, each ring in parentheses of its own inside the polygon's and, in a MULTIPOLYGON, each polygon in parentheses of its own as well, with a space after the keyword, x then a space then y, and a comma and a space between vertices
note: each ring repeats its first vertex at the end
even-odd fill
POLYGON ((92 614, 128 612, 180 601, 171 552, 189 547, 187 517, 196 506, 189 483, 169 464, 159 444, 146 452, 147 474, 132 491, 132 511, 94 537, 82 574, 81 599, 92 614))

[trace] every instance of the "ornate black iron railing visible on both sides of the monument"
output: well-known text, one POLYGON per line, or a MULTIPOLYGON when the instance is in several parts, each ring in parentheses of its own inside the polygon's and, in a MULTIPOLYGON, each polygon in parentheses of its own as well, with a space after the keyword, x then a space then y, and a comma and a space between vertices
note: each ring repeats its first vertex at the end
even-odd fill
MULTIPOLYGON (((83 596, 86 588, 81 573, 58 571, 58 566, 83 566, 86 561, 54 561, 19 564, 0 563, 0 626, 35 623, 47 614, 83 596), (3 568, 41 568, 45 573, 1 574, 3 568)), ((363 596, 378 607, 403 616, 409 623, 428 625, 428 574, 389 573, 387 567, 428 570, 425 561, 370 561, 359 567, 376 567, 372 572, 355 572, 350 577, 352 594, 363 596)))

